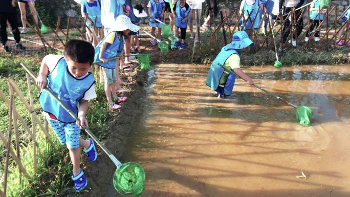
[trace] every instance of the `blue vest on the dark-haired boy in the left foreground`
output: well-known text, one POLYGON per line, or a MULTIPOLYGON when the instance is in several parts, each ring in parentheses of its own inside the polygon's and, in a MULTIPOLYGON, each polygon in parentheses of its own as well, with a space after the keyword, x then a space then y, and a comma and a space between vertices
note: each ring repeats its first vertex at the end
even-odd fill
MULTIPOLYGON (((48 88, 78 115, 78 102, 84 97, 86 91, 95 83, 94 75, 90 72, 82 79, 73 77, 69 71, 67 62, 62 57, 54 70, 48 75, 48 88)), ((61 107, 58 102, 43 90, 39 96, 39 102, 44 112, 50 113, 63 123, 74 123, 76 120, 61 107)))

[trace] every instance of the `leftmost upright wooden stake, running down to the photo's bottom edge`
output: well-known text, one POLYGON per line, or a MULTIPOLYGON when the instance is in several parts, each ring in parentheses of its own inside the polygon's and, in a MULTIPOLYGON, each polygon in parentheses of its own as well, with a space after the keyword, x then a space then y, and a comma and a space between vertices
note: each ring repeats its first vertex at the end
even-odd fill
POLYGON ((7 190, 7 174, 9 171, 9 159, 10 159, 10 148, 11 148, 11 136, 12 136, 12 112, 13 112, 13 90, 11 85, 9 85, 10 92, 10 108, 9 108, 9 133, 8 133, 8 141, 7 141, 7 152, 6 152, 6 160, 5 160, 5 172, 4 172, 4 195, 6 196, 7 190))

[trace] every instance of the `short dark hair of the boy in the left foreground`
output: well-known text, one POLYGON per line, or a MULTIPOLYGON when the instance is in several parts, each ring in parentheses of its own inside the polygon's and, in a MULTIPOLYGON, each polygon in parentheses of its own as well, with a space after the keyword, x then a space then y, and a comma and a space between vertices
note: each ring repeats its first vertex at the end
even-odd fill
POLYGON ((91 43, 83 40, 72 39, 65 43, 64 56, 78 63, 94 62, 95 49, 91 43))

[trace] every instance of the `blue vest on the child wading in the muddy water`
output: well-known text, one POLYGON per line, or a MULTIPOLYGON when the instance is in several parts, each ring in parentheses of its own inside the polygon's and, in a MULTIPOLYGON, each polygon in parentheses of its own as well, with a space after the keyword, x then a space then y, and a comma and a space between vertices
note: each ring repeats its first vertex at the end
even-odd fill
MULTIPOLYGON (((221 49, 221 52, 216 56, 214 61, 211 63, 206 85, 208 85, 212 91, 215 91, 219 85, 219 81, 221 76, 224 73, 224 68, 222 68, 218 63, 224 65, 225 61, 232 55, 232 54, 238 54, 238 52, 235 49, 231 49, 228 47, 229 45, 223 47, 221 49)), ((226 71, 225 71, 226 72, 226 71)), ((231 95, 234 82, 235 82, 236 75, 233 73, 230 73, 227 77, 224 93, 225 95, 231 95)))

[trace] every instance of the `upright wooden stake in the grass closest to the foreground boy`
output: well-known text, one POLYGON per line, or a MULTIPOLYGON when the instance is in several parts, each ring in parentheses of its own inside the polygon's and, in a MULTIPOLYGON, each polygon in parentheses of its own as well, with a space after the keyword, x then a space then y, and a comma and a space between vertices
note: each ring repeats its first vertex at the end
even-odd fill
POLYGON ((36 131, 35 131, 35 121, 34 121, 34 103, 32 96, 32 87, 28 73, 26 73, 28 93, 29 93, 29 103, 30 103, 30 119, 32 122, 32 134, 33 134, 33 160, 34 160, 34 171, 37 171, 37 158, 36 158, 36 131))

